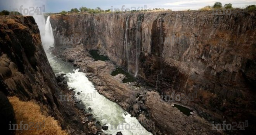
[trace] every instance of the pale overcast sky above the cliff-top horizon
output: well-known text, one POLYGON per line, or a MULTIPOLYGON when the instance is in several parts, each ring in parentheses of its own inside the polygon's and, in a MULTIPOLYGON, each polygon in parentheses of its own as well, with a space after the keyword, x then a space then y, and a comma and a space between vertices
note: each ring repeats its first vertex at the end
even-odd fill
MULTIPOLYGON (((232 3, 233 7, 246 7, 246 5, 256 4, 256 0, 1 0, 0 10, 8 10, 15 7, 14 4, 26 2, 28 3, 42 3, 45 4, 45 12, 61 12, 62 10, 69 11, 71 8, 100 7, 104 10, 111 8, 121 9, 131 7, 144 7, 147 8, 164 8, 171 10, 197 10, 207 5, 213 5, 215 2, 221 2, 222 5, 232 3)), ((142 8, 138 8, 142 9, 142 8)))

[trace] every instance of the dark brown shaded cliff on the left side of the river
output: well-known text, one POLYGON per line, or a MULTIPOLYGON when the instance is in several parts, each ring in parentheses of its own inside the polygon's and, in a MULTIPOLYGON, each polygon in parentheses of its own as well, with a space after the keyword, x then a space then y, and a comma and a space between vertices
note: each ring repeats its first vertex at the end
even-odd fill
POLYGON ((31 16, 0 16, 0 81, 1 91, 36 101, 70 134, 88 132, 74 105, 60 101, 61 92, 66 92, 57 85, 31 16))

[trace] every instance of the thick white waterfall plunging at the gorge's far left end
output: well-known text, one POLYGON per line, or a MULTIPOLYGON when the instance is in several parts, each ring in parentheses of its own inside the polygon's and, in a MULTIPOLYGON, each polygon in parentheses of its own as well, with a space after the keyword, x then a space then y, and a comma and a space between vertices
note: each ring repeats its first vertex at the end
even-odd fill
POLYGON ((45 34, 42 36, 42 44, 45 50, 54 45, 54 35, 52 32, 52 25, 50 23, 50 16, 48 16, 46 20, 45 34))

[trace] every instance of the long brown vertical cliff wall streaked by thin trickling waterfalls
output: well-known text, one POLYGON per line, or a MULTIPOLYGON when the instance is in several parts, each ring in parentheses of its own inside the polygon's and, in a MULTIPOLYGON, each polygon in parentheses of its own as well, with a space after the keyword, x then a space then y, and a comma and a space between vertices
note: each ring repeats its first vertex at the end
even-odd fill
POLYGON ((208 113, 254 125, 255 12, 211 13, 70 14, 50 21, 56 46, 99 49, 159 93, 197 91, 195 101, 183 104, 197 106, 209 121, 208 113))

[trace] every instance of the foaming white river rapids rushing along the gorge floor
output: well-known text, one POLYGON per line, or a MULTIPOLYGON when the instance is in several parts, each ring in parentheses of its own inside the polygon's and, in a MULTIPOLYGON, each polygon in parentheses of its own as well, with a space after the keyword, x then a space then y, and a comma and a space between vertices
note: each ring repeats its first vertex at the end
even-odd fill
MULTIPOLYGON (((92 108, 92 113, 102 125, 109 127, 106 133, 115 135, 121 131, 123 135, 152 135, 143 128, 135 117, 131 117, 118 104, 108 100, 100 95, 94 88, 93 84, 85 76, 85 73, 78 72, 68 73, 68 86, 74 88, 77 92, 84 93, 84 98, 80 100, 87 107, 92 108)), ((75 95, 78 97, 78 95, 75 95)))

